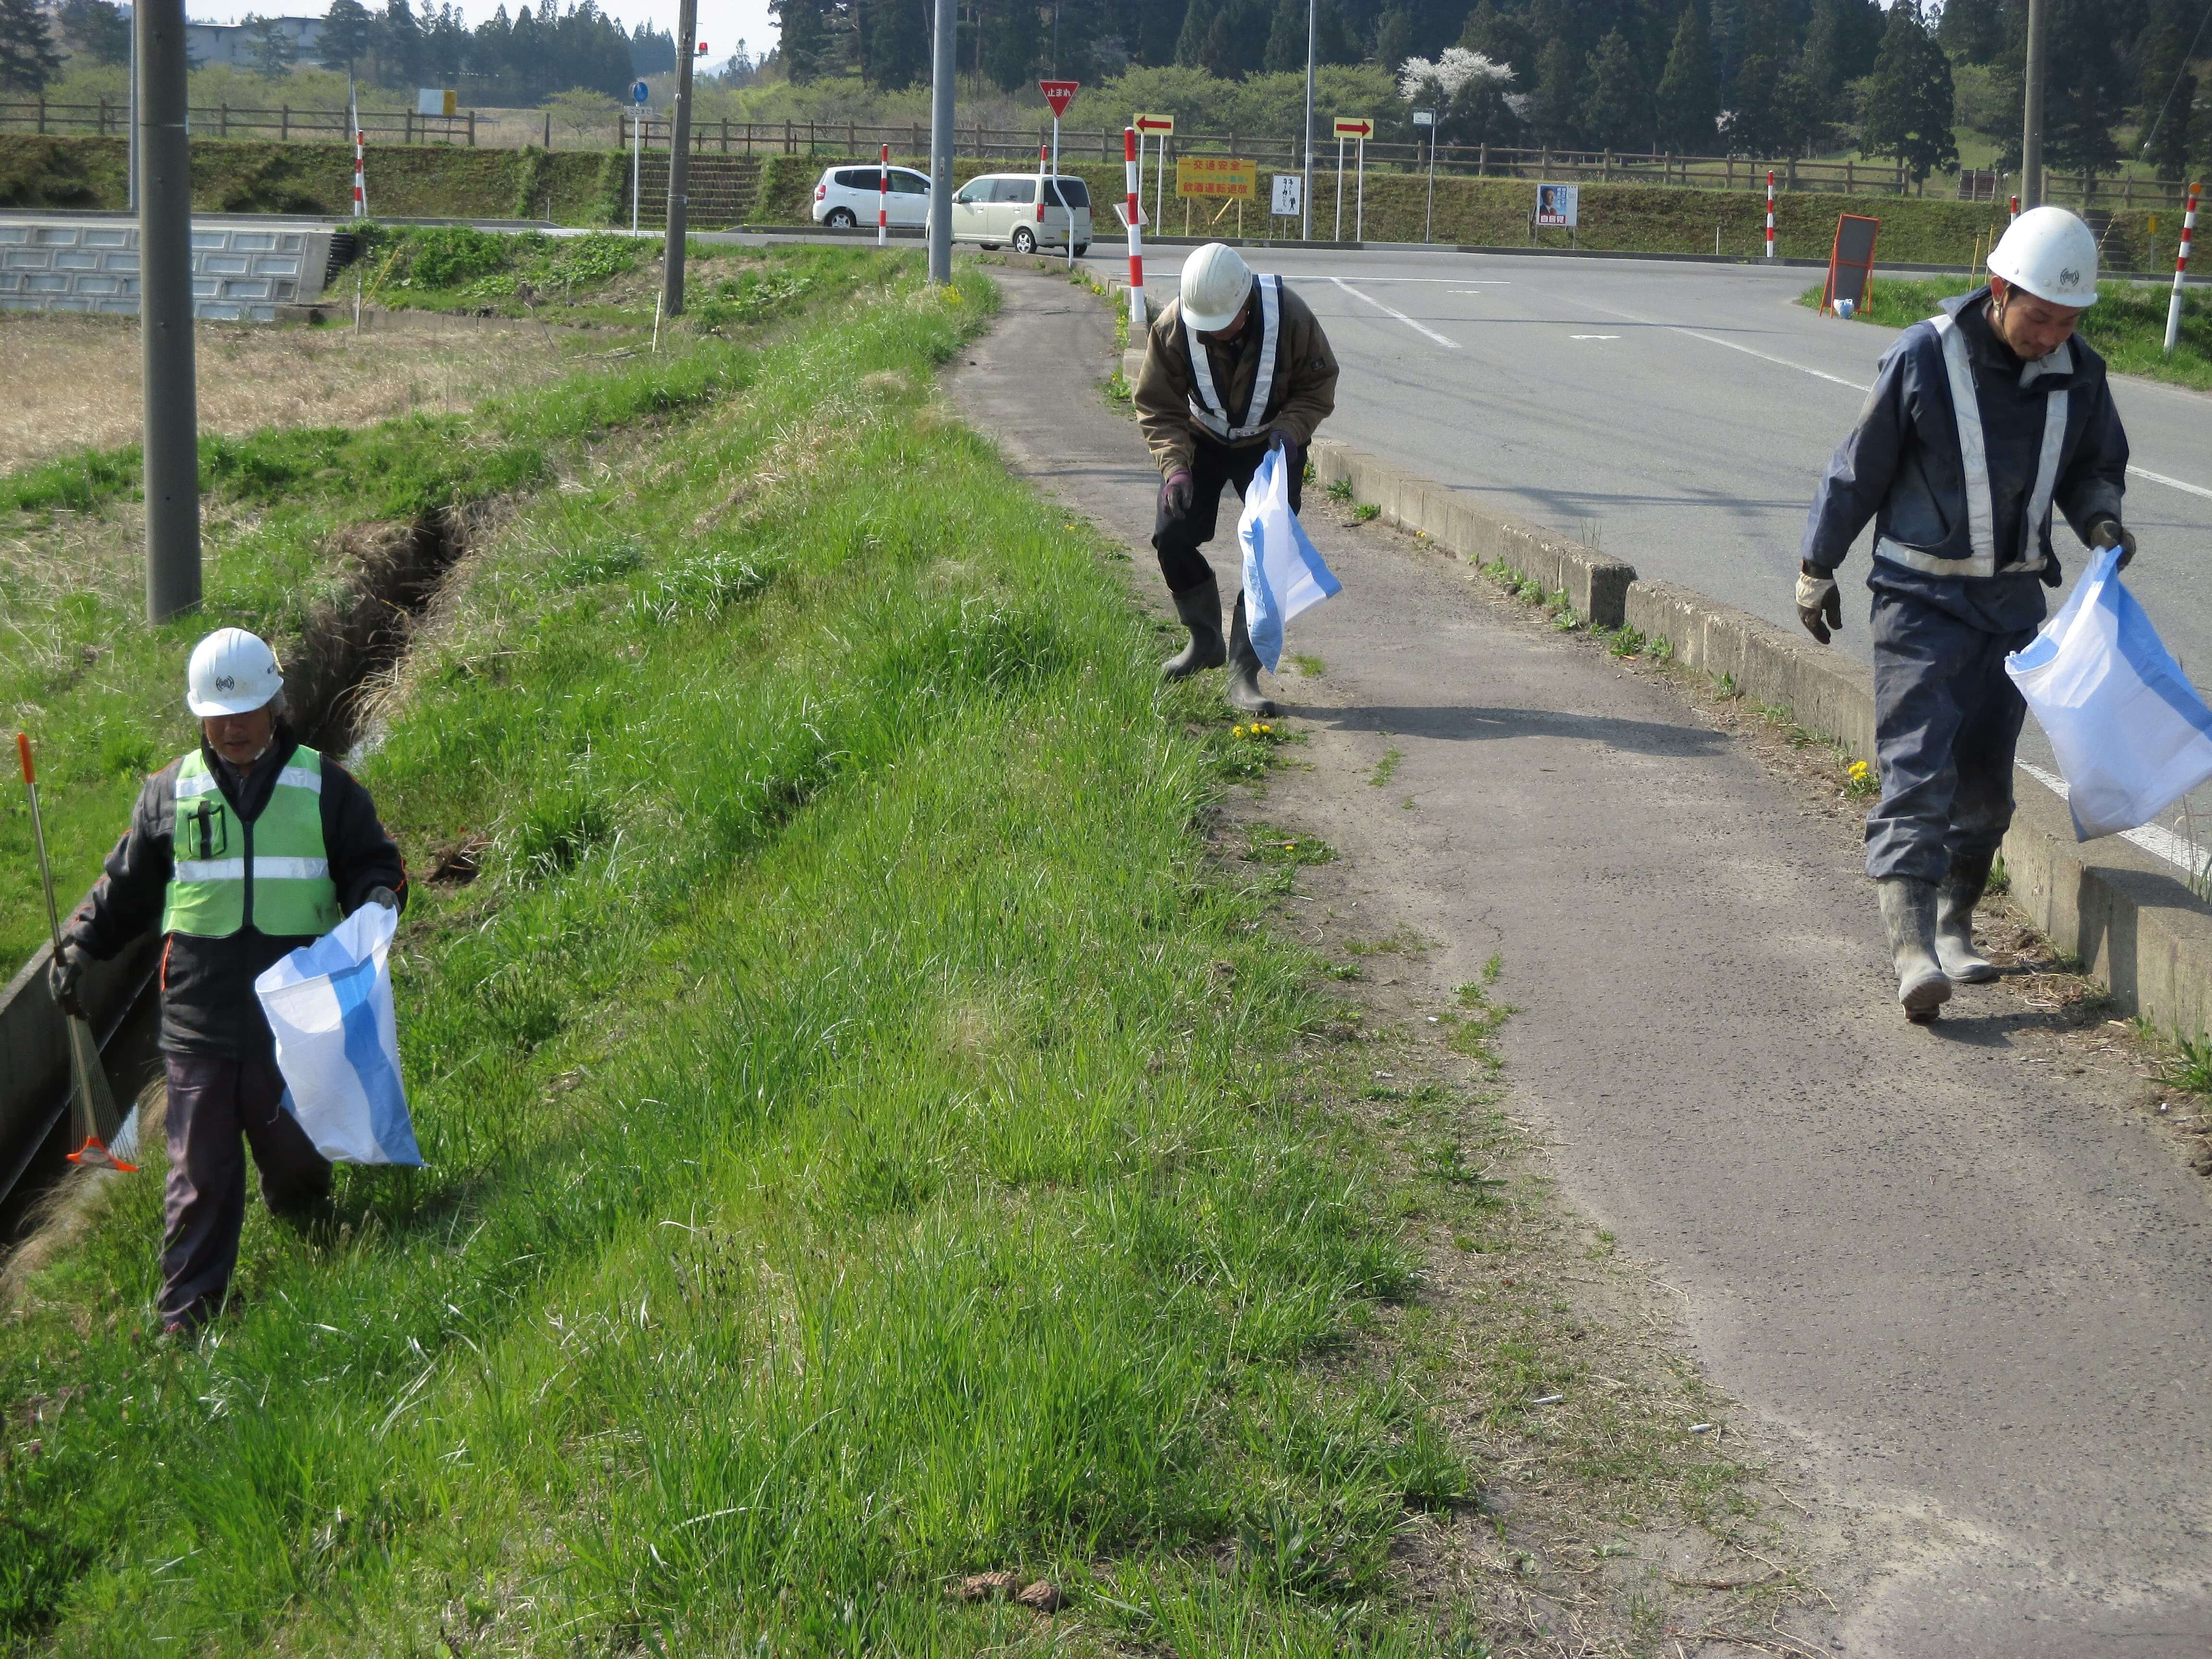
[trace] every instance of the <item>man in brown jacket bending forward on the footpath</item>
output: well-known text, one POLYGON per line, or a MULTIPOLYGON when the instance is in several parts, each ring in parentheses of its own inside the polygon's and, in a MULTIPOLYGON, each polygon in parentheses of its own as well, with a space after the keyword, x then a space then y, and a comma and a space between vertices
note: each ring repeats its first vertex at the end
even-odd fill
POLYGON ((1259 688, 1243 591, 1223 639, 1221 588, 1199 549, 1214 540, 1221 487, 1243 495, 1270 449, 1283 451, 1298 509, 1314 427, 1336 409, 1336 354, 1281 276, 1254 276, 1234 248, 1210 241, 1183 261, 1181 294, 1146 332, 1135 400, 1161 476, 1152 551, 1175 615, 1190 628, 1190 644, 1161 675, 1228 664, 1230 706, 1274 714, 1259 688))

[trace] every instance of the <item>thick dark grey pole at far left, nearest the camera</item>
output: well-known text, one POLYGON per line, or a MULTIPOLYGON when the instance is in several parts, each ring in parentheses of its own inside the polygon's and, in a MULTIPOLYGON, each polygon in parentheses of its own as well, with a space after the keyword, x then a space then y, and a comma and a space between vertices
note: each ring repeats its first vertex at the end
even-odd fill
POLYGON ((131 9, 139 119, 139 361, 146 380, 146 622, 199 606, 199 383, 184 0, 131 9))

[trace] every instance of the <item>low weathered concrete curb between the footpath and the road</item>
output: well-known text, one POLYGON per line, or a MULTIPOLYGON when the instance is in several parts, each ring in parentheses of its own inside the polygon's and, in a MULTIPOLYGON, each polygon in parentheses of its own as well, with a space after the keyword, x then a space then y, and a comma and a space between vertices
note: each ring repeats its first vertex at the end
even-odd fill
MULTIPOLYGON (((1874 763, 1874 670, 1865 664, 1694 588, 1644 582, 1624 560, 1489 513, 1464 491, 1358 449, 1318 440, 1314 471, 1323 482, 1352 480, 1356 500, 1444 553, 1471 564, 1502 557, 1548 591, 1566 588, 1593 626, 1666 639, 1683 666, 1730 675, 1745 697, 1874 763)), ((2004 838, 2013 902, 2121 1009, 2174 1035, 2212 1033, 2212 905, 2170 863, 2119 836, 2077 843, 2066 803, 2026 772, 2013 774, 2013 794, 2020 810, 2004 838)))

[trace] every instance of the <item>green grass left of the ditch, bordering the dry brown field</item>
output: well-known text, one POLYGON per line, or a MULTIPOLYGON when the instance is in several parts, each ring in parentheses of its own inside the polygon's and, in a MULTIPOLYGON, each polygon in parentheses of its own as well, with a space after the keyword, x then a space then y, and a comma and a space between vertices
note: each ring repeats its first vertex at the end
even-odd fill
MULTIPOLYGON (((480 241, 522 257, 511 239, 467 230, 411 232, 396 270, 418 252, 449 265, 480 241), (456 254, 458 250, 458 254, 456 254)), ((568 243, 551 314, 650 325, 653 281, 622 265, 626 239, 568 243), (611 270, 586 279, 588 270, 611 270), (566 303, 562 303, 562 296, 566 303)), ((745 334, 807 299, 847 292, 872 270, 858 248, 719 248, 690 268, 688 330, 745 334)), ((453 274, 453 272, 447 272, 453 274)), ((471 276, 469 281, 484 281, 471 276)), ((409 290, 414 301, 467 288, 409 290)), ((584 369, 551 387, 493 400, 473 414, 418 414, 363 427, 272 429, 243 438, 201 434, 206 489, 206 593, 201 617, 164 628, 139 624, 139 456, 135 445, 84 449, 0 473, 0 719, 24 726, 44 754, 42 799, 55 880, 71 902, 100 874, 100 858, 128 821, 142 772, 181 752, 190 721, 177 695, 179 664, 208 617, 265 633, 288 650, 312 613, 343 604, 341 531, 367 520, 416 520, 542 484, 564 442, 597 427, 661 418, 717 392, 708 356, 686 356, 681 374, 639 369, 633 358, 582 358, 582 349, 628 352, 626 336, 577 343, 533 341, 529 352, 577 354, 584 369), (684 389, 679 389, 684 387, 684 389)), ((637 336, 628 336, 637 338, 637 336)), ((44 940, 44 909, 31 860, 31 825, 20 794, 0 810, 0 964, 13 971, 44 940)))

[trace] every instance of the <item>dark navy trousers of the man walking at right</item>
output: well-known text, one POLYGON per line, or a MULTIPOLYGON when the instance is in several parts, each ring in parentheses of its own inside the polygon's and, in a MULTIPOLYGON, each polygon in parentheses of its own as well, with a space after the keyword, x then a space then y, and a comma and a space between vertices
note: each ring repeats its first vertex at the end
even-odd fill
POLYGON ((1993 854, 2013 823, 2013 750, 2028 706, 2004 672, 2035 628, 1986 633, 1902 593, 1874 593, 1874 750, 1867 874, 1942 880, 1993 854))

